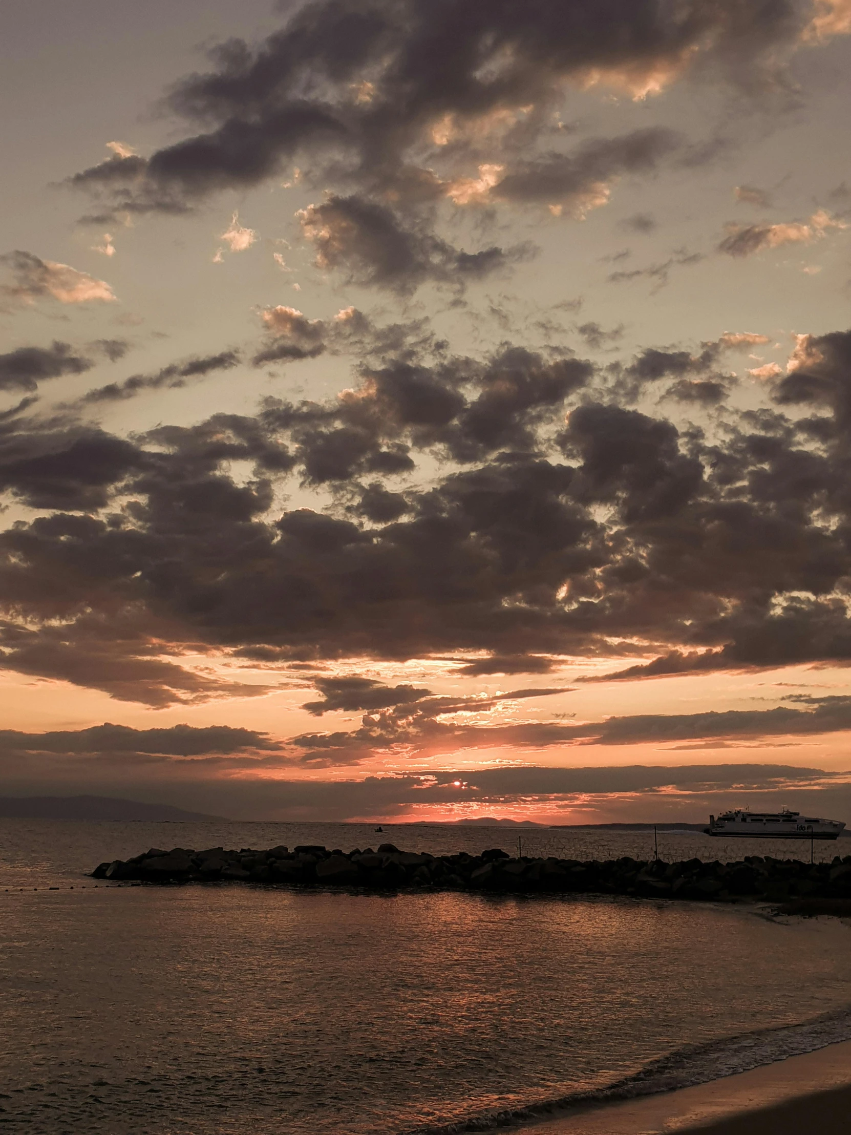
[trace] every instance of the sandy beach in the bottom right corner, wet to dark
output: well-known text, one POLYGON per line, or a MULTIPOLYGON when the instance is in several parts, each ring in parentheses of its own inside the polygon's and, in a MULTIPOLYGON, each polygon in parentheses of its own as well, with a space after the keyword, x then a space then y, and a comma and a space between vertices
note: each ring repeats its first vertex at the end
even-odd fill
POLYGON ((525 1125, 530 1135, 851 1135, 851 1041, 583 1113, 525 1125))

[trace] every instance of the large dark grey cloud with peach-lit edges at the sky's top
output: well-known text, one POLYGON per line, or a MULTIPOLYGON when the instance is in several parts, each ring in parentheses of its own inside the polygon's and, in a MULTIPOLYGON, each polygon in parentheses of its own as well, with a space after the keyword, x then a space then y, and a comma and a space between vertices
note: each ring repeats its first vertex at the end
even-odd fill
MULTIPOLYGON (((167 104, 186 123, 183 138, 148 159, 115 144, 70 184, 94 193, 99 217, 178 213, 298 162, 318 184, 354 184, 373 203, 433 202, 448 186, 463 208, 489 194, 504 166, 506 199, 538 195, 536 175, 546 174, 556 190, 546 203, 590 208, 621 167, 606 166, 582 188, 572 157, 539 149, 566 87, 640 99, 693 74, 776 91, 803 42, 845 31, 837 8, 815 20, 808 8, 690 0, 672 23, 659 8, 623 0, 593 11, 554 0, 522 9, 474 0, 460 22, 455 6, 423 0, 376 0, 345 12, 314 0, 255 48, 218 45, 207 73, 171 87, 167 104)), ((651 170, 634 160, 624 171, 651 170)))

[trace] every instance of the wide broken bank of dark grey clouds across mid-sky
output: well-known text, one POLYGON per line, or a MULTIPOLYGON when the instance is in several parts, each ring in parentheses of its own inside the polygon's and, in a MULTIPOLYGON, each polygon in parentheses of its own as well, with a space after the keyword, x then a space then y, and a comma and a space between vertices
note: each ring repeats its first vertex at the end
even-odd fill
POLYGON ((851 333, 799 339, 768 404, 706 427, 617 404, 618 381, 716 381, 745 339, 597 385, 508 345, 390 353, 339 396, 133 439, 12 413, 0 481, 53 514, 0 533, 5 664, 169 704, 234 689, 184 653, 657 657, 630 678, 851 661, 851 333), (276 506, 288 476, 327 508, 276 506))

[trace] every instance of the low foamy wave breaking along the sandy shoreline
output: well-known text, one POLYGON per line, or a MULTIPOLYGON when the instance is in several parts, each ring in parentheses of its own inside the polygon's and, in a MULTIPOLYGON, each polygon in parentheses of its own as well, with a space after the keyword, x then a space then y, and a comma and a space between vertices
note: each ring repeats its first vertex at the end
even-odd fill
POLYGON ((693 1087, 736 1073, 750 1071, 752 1068, 762 1068, 787 1057, 816 1052, 842 1041, 851 1041, 851 1006, 821 1014, 801 1024, 778 1025, 703 1044, 690 1044, 651 1060, 640 1071, 604 1087, 481 1112, 438 1126, 410 1128, 405 1135, 458 1135, 461 1132, 490 1130, 511 1121, 540 1119, 579 1105, 614 1103, 641 1095, 672 1092, 680 1087, 693 1087))

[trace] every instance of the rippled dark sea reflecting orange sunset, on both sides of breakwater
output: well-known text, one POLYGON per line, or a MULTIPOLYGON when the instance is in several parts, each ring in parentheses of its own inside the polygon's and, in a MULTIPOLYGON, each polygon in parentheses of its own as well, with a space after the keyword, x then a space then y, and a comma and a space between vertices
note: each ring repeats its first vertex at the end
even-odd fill
MULTIPOLYGON (((516 852, 519 839, 524 855, 654 854, 652 832, 0 821, 0 1132, 481 1130, 851 1039, 851 927, 836 919, 86 875, 150 847, 516 852)), ((810 847, 659 832, 658 851, 810 847)))

